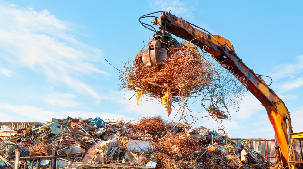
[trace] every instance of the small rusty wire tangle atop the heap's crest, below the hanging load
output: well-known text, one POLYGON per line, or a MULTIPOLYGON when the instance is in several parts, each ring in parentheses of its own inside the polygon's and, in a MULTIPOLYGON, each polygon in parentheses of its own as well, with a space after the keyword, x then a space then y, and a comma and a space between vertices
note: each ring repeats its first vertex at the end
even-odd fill
POLYGON ((165 121, 160 116, 142 117, 137 123, 128 123, 127 127, 135 132, 162 135, 166 130, 164 123, 165 121))

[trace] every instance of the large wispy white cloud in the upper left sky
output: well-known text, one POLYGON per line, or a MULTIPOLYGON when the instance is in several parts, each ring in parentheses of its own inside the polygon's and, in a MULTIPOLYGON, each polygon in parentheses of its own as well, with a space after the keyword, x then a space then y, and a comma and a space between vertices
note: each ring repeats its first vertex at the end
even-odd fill
MULTIPOLYGON (((47 10, 0 5, 0 57, 15 67, 25 67, 45 76, 51 83, 66 85, 78 93, 101 96, 82 76, 109 75, 95 64, 102 52, 81 43, 72 35, 72 24, 61 21, 47 10)), ((1 71, 12 76, 7 69, 1 71)))

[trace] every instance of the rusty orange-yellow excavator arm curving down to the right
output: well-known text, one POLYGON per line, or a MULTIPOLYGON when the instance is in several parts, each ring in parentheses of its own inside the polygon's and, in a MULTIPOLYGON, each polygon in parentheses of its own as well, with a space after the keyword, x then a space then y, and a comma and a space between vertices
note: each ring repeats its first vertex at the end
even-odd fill
POLYGON ((230 41, 219 35, 202 32, 201 30, 206 30, 168 12, 161 13, 160 17, 154 19, 153 24, 157 25, 160 30, 167 31, 201 47, 201 49, 212 54, 216 61, 231 66, 235 73, 249 79, 247 89, 265 107, 281 150, 283 166, 287 166, 289 156, 288 145, 290 144, 290 133, 292 132, 289 112, 282 99, 268 87, 262 77, 257 76, 253 70, 249 69, 242 62, 242 59, 235 54, 230 41))

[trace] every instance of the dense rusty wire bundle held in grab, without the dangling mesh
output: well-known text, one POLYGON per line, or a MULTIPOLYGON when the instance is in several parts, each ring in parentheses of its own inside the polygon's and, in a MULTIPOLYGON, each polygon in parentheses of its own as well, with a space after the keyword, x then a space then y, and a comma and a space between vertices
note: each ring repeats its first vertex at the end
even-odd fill
POLYGON ((208 56, 198 57, 200 53, 195 54, 194 50, 192 47, 169 48, 160 71, 143 63, 125 65, 125 71, 120 75, 121 89, 143 91, 147 98, 152 96, 156 99, 161 99, 169 90, 174 101, 203 90, 209 82, 218 79, 218 75, 208 56))

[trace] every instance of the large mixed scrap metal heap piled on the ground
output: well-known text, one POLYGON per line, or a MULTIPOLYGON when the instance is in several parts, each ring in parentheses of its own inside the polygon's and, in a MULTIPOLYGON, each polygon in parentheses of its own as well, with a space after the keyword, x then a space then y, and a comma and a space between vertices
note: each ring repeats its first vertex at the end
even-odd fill
POLYGON ((0 141, 2 161, 5 157, 13 163, 12 150, 17 148, 23 152, 21 156, 47 156, 55 150, 57 167, 66 169, 265 169, 272 165, 253 151, 250 141, 235 144, 226 133, 168 123, 159 116, 137 122, 53 118, 34 129, 18 129, 17 134, 0 141))

